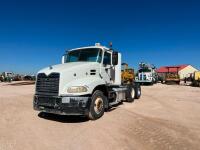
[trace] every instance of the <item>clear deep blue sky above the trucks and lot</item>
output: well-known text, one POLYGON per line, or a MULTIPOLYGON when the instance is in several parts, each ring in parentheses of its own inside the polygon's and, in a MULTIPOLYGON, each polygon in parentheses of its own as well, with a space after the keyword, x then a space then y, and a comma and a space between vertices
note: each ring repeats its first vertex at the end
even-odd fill
POLYGON ((0 72, 36 73, 65 49, 100 42, 137 68, 200 68, 200 1, 7 0, 0 2, 0 72))

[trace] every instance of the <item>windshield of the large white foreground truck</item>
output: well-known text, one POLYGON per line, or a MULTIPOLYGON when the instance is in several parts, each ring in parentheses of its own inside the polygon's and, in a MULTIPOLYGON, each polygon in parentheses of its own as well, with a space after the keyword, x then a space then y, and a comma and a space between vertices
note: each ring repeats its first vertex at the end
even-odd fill
POLYGON ((87 48, 69 51, 65 55, 65 63, 69 62, 101 62, 102 51, 99 48, 87 48))

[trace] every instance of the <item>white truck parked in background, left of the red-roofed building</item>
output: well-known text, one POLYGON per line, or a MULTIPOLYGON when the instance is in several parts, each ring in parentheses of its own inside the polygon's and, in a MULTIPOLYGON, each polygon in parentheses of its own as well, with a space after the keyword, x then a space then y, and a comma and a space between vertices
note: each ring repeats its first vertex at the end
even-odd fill
POLYGON ((156 73, 156 67, 154 65, 143 62, 139 64, 137 77, 135 78, 136 82, 140 84, 153 85, 154 83, 157 83, 157 80, 158 75, 156 73))

